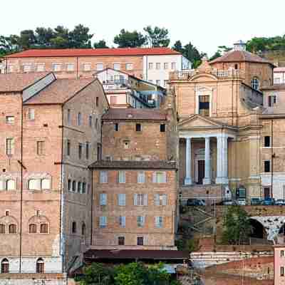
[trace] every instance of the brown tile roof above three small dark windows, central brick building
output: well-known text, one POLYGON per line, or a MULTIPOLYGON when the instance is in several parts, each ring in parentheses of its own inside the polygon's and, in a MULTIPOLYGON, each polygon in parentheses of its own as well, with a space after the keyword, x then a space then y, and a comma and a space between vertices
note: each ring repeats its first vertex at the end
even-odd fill
POLYGON ((167 120, 166 113, 153 109, 110 108, 103 120, 167 120))

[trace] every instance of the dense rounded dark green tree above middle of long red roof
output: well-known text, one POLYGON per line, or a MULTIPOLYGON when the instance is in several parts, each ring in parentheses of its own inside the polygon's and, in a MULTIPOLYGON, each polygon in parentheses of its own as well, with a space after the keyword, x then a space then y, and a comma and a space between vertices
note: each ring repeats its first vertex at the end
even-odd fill
POLYGON ((115 36, 114 43, 119 48, 137 48, 145 44, 146 38, 138 31, 125 31, 123 28, 120 33, 115 36))

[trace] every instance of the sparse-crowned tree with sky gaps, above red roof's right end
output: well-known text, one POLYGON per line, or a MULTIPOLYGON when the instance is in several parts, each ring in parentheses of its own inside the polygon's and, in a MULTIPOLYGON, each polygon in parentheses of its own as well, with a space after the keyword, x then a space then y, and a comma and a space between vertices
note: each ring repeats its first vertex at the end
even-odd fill
POLYGON ((143 30, 147 33, 147 43, 152 48, 169 46, 170 38, 168 37, 167 28, 159 28, 157 26, 152 28, 151 26, 147 26, 143 30))

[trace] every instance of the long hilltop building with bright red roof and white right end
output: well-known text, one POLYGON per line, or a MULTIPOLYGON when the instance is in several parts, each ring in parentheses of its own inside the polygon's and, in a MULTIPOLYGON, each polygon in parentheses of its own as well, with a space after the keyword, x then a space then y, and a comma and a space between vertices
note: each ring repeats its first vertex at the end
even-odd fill
POLYGON ((92 76, 113 68, 166 87, 170 71, 191 63, 171 48, 33 49, 4 58, 6 73, 53 71, 58 77, 92 76))

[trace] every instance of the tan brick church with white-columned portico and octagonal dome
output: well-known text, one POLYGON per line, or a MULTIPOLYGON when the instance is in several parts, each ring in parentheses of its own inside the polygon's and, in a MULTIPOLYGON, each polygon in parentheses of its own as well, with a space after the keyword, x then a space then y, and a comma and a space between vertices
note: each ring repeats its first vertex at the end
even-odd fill
MULTIPOLYGON (((273 193, 268 181, 262 182, 272 169, 270 138, 264 138, 265 133, 271 135, 265 116, 272 107, 266 105, 266 92, 261 91, 271 89, 273 68, 239 42, 214 61, 204 58, 195 71, 170 74, 179 120, 180 192, 207 198, 220 185, 223 198, 239 198, 239 189, 246 190, 248 201, 284 197, 283 182, 274 186, 278 190, 273 193)), ((269 100, 275 104, 274 98, 269 100)), ((274 120, 276 147, 284 147, 281 126, 281 120, 274 120)), ((284 169, 282 157, 276 160, 278 172, 284 169)))

